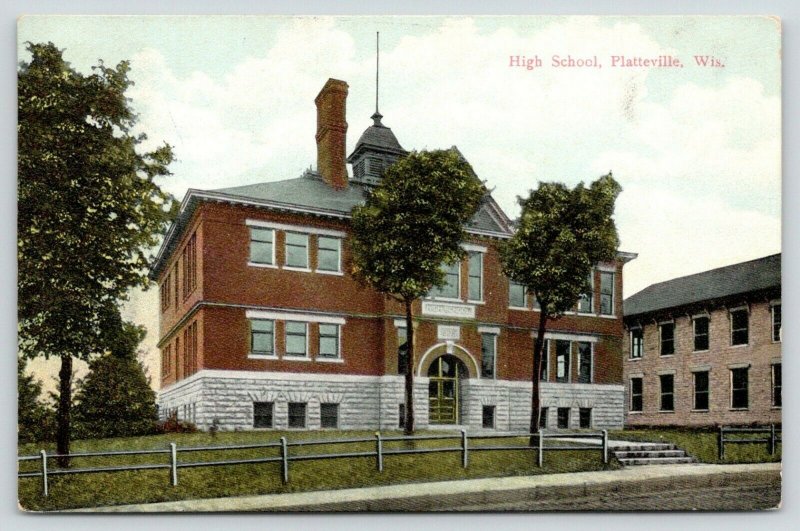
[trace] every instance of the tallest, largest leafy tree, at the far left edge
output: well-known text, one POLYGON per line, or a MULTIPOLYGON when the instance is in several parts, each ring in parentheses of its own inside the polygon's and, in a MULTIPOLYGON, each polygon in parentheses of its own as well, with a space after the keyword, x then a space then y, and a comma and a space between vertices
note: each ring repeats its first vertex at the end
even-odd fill
MULTIPOLYGON (((127 61, 77 72, 52 43, 28 44, 18 89, 19 350, 57 356, 57 449, 69 453, 72 358, 107 351, 117 305, 147 288, 152 249, 171 219, 164 144, 139 153, 127 61)), ((62 466, 68 458, 59 460, 62 466)))

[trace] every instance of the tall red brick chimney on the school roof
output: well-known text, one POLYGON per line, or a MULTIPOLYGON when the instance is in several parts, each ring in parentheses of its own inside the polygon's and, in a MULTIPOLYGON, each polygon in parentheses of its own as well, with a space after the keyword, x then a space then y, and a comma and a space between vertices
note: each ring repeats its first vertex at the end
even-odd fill
POLYGON ((337 190, 347 188, 347 83, 329 79, 319 91, 317 104, 317 171, 337 190))

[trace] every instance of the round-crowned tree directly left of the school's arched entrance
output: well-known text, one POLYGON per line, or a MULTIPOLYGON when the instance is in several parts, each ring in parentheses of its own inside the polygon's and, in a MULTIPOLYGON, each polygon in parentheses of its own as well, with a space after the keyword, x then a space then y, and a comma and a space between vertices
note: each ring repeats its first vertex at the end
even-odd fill
POLYGON ((390 166, 353 209, 353 274, 405 308, 405 432, 414 432, 415 300, 442 286, 442 264, 461 260, 464 225, 486 189, 456 150, 412 152, 390 166))

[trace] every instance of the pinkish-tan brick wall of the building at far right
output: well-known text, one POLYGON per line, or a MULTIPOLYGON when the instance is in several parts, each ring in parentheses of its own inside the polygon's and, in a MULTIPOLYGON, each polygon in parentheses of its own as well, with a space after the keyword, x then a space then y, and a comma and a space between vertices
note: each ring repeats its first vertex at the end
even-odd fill
POLYGON ((660 355, 658 325, 644 323, 644 354, 630 359, 630 341, 624 342, 624 378, 626 382, 626 423, 637 425, 712 425, 749 424, 781 421, 780 409, 772 407, 772 367, 781 358, 781 344, 772 341, 772 320, 768 302, 750 306, 749 343, 730 345, 728 310, 710 312, 709 349, 693 352, 694 330, 687 315, 675 317, 675 354, 660 355), (748 371, 749 407, 731 409, 730 365, 750 364, 748 371), (710 367, 709 411, 692 411, 694 407, 693 368, 710 367), (675 411, 661 412, 659 372, 675 371, 675 411), (630 378, 644 375, 641 413, 630 412, 630 378))

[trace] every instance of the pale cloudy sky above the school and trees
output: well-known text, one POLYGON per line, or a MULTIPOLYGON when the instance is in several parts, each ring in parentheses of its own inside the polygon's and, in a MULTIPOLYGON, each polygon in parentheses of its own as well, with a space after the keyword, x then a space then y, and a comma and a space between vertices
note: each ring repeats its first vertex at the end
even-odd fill
MULTIPOLYGON (((18 55, 29 57, 26 41, 52 41, 83 72, 129 60, 142 148, 173 146, 173 175, 160 184, 180 199, 315 165, 313 100, 328 78, 350 86, 350 153, 375 108, 376 32, 383 123, 409 150, 458 146, 511 218, 516 197, 541 181, 613 171, 620 249, 638 253, 626 297, 781 251, 781 36, 771 18, 26 16, 18 55), (510 66, 514 56, 542 66, 510 66), (555 67, 554 56, 600 67, 555 67), (614 67, 612 56, 683 67, 614 67)), ((148 328, 151 375, 157 298, 132 292, 124 308, 148 328)))

